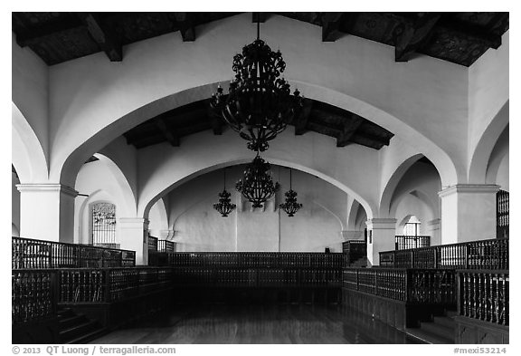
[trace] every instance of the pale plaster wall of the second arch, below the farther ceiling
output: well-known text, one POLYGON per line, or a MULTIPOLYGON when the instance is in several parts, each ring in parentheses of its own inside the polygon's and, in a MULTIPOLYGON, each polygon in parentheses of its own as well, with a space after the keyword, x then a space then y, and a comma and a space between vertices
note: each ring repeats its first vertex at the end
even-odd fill
MULTIPOLYGON (((211 130, 190 135, 178 148, 167 143, 139 149, 138 214, 168 189, 208 170, 230 164, 249 162, 254 153, 236 132, 226 130, 221 136, 211 130)), ((295 136, 282 132, 270 143, 264 156, 273 164, 298 168, 346 191, 373 214, 378 191, 378 151, 361 145, 336 148, 336 140, 316 132, 295 136)), ((346 202, 344 202, 346 204, 346 202)))

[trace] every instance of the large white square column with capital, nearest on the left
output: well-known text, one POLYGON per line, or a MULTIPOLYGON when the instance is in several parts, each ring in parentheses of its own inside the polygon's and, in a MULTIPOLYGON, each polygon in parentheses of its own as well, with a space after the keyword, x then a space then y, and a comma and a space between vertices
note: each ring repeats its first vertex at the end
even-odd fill
POLYGON ((62 184, 17 184, 20 191, 20 236, 74 242, 74 197, 62 184))

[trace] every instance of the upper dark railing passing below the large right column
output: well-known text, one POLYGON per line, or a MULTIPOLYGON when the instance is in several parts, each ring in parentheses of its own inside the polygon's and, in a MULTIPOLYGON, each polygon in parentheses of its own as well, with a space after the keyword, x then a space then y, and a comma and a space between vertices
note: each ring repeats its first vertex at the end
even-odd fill
POLYGON ((508 239, 471 241, 380 253, 380 266, 397 268, 508 269, 508 239))

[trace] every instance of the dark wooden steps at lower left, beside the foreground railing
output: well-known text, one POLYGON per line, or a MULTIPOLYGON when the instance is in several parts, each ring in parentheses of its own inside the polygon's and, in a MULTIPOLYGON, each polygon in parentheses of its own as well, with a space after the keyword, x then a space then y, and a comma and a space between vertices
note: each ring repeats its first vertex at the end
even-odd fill
POLYGON ((58 328, 60 343, 87 343, 108 332, 99 322, 90 321, 70 308, 58 310, 58 328))

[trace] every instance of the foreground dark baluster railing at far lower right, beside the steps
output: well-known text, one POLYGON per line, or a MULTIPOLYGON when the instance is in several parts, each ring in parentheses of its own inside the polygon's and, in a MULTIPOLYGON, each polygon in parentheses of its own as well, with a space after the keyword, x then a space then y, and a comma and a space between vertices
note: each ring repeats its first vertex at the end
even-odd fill
POLYGON ((509 324, 508 271, 458 271, 458 312, 461 316, 509 324))

